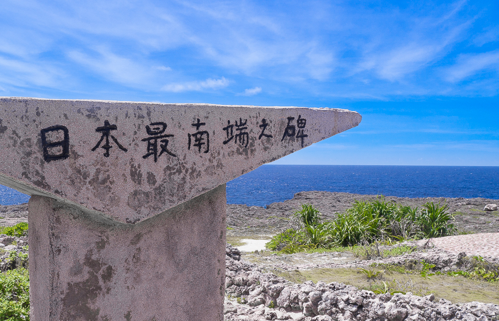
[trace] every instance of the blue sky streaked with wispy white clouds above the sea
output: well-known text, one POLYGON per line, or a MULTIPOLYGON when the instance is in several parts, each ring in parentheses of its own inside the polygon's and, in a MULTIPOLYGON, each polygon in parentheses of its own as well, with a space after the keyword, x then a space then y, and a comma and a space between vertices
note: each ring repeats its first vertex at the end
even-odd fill
POLYGON ((499 166, 499 1, 0 6, 0 96, 339 107, 278 164, 499 166))

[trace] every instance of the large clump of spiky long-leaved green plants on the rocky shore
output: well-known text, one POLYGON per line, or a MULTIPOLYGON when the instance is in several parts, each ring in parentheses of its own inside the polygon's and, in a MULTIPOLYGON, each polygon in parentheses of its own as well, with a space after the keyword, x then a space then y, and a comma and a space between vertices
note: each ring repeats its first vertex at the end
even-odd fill
MULTIPOLYGON (((274 236, 266 245, 267 249, 291 254, 457 233, 454 217, 446 204, 428 202, 418 209, 387 202, 384 197, 355 201, 346 213, 338 214, 333 221, 322 222, 320 212, 310 204, 301 205, 293 218, 295 226, 274 236)), ((378 253, 377 256, 382 255, 378 253)))

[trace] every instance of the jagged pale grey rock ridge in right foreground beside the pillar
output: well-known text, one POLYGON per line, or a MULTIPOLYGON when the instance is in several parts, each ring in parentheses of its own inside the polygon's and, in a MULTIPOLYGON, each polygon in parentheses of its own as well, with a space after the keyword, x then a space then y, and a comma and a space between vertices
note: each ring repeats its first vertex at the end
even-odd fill
POLYGON ((486 321, 499 316, 494 304, 456 305, 412 293, 376 295, 337 282, 294 284, 241 260, 230 245, 226 252, 227 321, 486 321))

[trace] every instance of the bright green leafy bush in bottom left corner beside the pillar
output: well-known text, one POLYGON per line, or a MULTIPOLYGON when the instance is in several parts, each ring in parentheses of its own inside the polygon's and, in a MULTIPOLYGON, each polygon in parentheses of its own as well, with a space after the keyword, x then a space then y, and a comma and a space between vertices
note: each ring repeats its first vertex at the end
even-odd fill
POLYGON ((29 321, 29 275, 19 268, 0 273, 0 321, 29 321))

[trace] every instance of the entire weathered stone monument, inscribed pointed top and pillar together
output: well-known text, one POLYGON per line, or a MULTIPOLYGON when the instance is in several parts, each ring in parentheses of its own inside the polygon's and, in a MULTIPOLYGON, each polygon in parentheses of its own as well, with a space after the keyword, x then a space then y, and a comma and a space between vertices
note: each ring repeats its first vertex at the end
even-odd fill
POLYGON ((222 321, 225 184, 360 120, 0 98, 0 184, 31 196, 31 321, 222 321))

